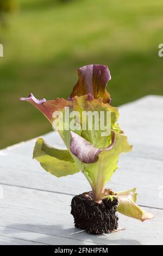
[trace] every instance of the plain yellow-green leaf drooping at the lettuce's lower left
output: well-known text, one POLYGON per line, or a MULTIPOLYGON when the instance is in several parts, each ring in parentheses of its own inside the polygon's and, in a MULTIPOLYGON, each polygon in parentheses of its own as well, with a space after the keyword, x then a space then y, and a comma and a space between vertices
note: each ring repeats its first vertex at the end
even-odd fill
POLYGON ((33 158, 40 162, 43 169, 58 178, 80 172, 68 150, 52 148, 42 138, 36 141, 33 158))

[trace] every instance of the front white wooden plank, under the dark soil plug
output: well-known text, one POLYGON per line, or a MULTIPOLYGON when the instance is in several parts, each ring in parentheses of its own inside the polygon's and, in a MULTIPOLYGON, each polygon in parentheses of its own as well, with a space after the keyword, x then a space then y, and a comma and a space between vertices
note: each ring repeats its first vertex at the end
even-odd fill
POLYGON ((0 201, 2 235, 48 244, 66 244, 68 241, 67 244, 73 245, 85 245, 86 242, 98 245, 162 245, 163 210, 146 208, 156 217, 144 223, 121 215, 120 226, 127 229, 109 236, 85 232, 70 235, 79 231, 73 227, 70 215, 71 196, 9 186, 3 188, 4 198, 0 201))

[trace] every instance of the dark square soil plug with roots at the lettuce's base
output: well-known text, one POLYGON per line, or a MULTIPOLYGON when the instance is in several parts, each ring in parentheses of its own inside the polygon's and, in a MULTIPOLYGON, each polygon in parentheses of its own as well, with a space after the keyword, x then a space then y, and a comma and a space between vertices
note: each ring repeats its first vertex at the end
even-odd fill
POLYGON ((73 197, 71 214, 76 228, 84 229, 89 234, 110 233, 118 228, 116 198, 97 203, 92 200, 92 192, 86 192, 73 197))

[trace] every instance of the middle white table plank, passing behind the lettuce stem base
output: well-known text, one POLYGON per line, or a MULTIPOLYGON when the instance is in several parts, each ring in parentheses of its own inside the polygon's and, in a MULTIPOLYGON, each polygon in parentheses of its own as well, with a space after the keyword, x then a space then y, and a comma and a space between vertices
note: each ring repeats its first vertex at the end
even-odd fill
MULTIPOLYGON (((24 156, 12 155, 9 161, 8 156, 1 156, 0 160, 0 184, 68 194, 79 194, 90 190, 90 185, 82 173, 58 179, 45 172, 36 160, 27 160, 24 156), (7 161, 10 167, 7 166, 7 161)), ((112 176, 108 187, 114 191, 137 187, 140 205, 163 208, 162 198, 159 197, 159 189, 163 185, 163 175, 160 175, 162 161, 128 154, 121 156, 119 166, 121 168, 112 176)))

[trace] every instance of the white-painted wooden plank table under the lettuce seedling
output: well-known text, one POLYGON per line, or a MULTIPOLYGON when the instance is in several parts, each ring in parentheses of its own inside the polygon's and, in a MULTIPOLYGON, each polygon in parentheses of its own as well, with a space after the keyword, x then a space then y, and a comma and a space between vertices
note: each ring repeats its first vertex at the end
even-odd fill
MULTIPOLYGON (((30 110, 29 110, 30 111, 30 110)), ((132 153, 108 185, 114 191, 137 187, 138 203, 155 215, 141 223, 120 216, 126 230, 109 235, 78 234, 70 215, 72 196, 90 187, 82 173, 55 178, 32 160, 36 139, 0 150, 1 245, 163 245, 163 97, 147 96, 120 107, 120 124, 132 153)), ((28 125, 28 124, 27 124, 28 125)), ((42 136, 63 148, 56 132, 42 136)))

